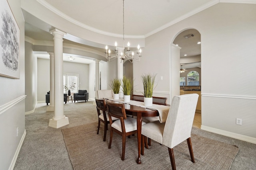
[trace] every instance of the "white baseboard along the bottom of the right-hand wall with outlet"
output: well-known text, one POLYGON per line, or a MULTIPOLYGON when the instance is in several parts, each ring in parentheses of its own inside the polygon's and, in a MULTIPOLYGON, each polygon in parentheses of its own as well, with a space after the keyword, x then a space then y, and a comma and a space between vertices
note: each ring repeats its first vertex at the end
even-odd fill
POLYGON ((256 138, 253 138, 253 137, 248 137, 248 136, 240 135, 240 134, 237 134, 237 133, 223 131, 223 130, 220 130, 220 129, 215 129, 215 128, 204 126, 204 125, 201 125, 201 129, 205 130, 205 131, 217 133, 217 134, 220 134, 220 135, 224 135, 224 136, 227 136, 227 137, 232 137, 234 139, 239 139, 241 141, 246 141, 246 142, 256 144, 256 138))

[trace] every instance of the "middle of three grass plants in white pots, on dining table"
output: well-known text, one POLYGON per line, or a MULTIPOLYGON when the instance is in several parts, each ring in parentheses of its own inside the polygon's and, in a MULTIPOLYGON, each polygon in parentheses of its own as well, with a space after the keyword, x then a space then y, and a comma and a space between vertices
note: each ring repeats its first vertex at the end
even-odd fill
POLYGON ((124 102, 130 102, 130 95, 132 93, 133 88, 133 80, 132 78, 128 78, 126 76, 122 79, 122 91, 124 93, 124 102))

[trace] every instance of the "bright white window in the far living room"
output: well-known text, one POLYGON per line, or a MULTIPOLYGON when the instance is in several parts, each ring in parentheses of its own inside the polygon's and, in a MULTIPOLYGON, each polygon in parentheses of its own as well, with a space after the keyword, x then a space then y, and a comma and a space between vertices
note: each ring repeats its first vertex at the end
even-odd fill
MULTIPOLYGON (((72 83, 76 83, 74 90, 70 90, 71 93, 76 93, 78 91, 78 80, 78 74, 63 74, 63 86, 66 85, 68 88, 70 88, 72 83)), ((63 90, 63 92, 67 93, 65 89, 63 90)))

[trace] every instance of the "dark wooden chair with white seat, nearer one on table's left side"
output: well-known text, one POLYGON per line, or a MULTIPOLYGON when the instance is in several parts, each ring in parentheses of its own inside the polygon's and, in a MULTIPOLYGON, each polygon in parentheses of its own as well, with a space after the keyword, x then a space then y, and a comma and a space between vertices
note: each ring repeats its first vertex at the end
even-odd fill
MULTIPOLYGON (((137 120, 133 119, 132 117, 126 117, 124 104, 117 104, 106 101, 106 105, 110 121, 110 140, 108 148, 111 148, 113 132, 115 131, 122 136, 121 159, 124 160, 126 137, 137 133, 137 120), (117 120, 113 122, 112 117, 116 117, 120 119, 120 121, 117 120)), ((146 123, 142 121, 142 125, 144 124, 146 123)))

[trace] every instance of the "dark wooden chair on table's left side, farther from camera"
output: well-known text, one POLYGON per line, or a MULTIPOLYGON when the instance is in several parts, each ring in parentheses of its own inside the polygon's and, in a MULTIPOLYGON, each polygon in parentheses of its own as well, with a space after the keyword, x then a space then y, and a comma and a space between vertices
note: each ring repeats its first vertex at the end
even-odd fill
MULTIPOLYGON (((104 137, 103 141, 106 141, 106 134, 108 130, 108 124, 109 124, 109 117, 108 117, 108 112, 107 112, 107 107, 106 107, 106 101, 104 99, 95 99, 96 101, 96 108, 98 112, 98 130, 97 134, 99 134, 100 130, 100 122, 104 123, 104 137), (102 112, 102 113, 100 113, 102 112)), ((118 118, 112 117, 112 121, 117 120, 118 118)))

